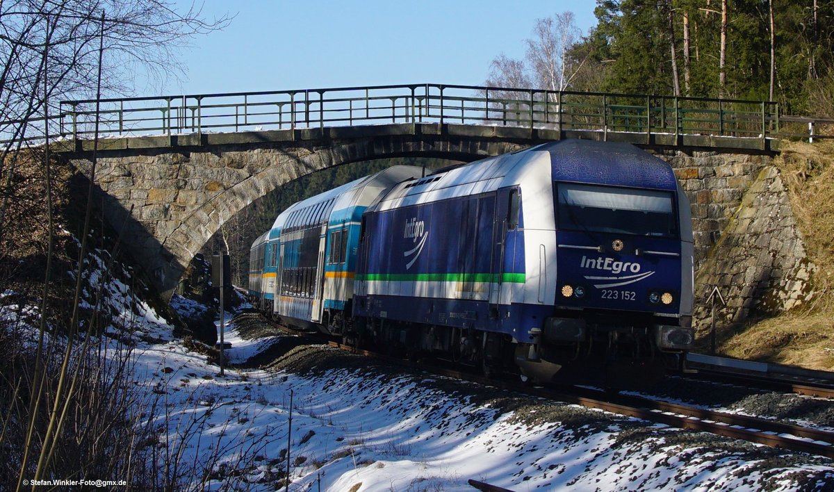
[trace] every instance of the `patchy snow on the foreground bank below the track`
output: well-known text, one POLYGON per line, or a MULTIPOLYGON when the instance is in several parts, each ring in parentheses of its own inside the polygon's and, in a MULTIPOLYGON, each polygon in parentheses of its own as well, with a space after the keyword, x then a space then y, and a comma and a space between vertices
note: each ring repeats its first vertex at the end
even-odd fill
MULTIPOLYGON (((225 335, 234 363, 286 350, 268 367, 220 376, 123 281, 96 276, 103 263, 93 267, 94 284, 110 293, 97 302, 137 340, 133 384, 158 434, 148 460, 167 464, 160 473, 178 488, 283 488, 288 442, 292 490, 473 490, 468 479, 519 492, 834 484, 829 459, 369 368, 365 359, 294 346, 289 337, 249 340, 234 324, 225 335)), ((0 318, 12 317, 2 304, 0 318)))

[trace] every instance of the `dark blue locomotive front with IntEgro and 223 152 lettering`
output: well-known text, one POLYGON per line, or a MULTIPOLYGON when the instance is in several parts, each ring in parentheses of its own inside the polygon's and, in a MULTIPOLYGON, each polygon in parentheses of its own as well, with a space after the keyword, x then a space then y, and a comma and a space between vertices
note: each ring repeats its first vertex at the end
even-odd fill
POLYGON ((549 151, 554 310, 516 362, 537 379, 611 387, 682 367, 693 342, 692 231, 670 166, 626 144, 549 151))

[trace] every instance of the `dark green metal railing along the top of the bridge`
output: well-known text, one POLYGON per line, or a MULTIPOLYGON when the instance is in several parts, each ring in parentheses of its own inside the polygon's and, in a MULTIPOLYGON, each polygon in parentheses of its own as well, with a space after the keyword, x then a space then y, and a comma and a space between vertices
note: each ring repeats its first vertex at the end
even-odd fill
MULTIPOLYGON (((90 138, 95 131, 96 103, 95 99, 60 103, 60 112, 51 118, 57 123, 58 136, 90 138)), ((658 133, 808 138, 796 129, 805 128, 806 120, 782 116, 777 103, 766 101, 433 83, 108 98, 98 103, 102 137, 459 123, 645 133, 650 138, 658 133), (792 125, 789 132, 783 131, 783 124, 792 125)), ((0 122, 0 143, 13 141, 8 139, 9 128, 14 128, 14 122, 0 122)), ((813 131, 813 125, 808 128, 813 131)))

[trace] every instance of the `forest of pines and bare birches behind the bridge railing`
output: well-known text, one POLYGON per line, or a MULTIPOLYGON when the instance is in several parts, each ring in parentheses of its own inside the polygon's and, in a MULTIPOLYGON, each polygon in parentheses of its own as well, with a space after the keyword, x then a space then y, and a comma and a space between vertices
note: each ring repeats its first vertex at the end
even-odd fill
POLYGON ((486 85, 776 101, 834 116, 834 1, 597 0, 535 21, 523 59, 499 54, 486 85))

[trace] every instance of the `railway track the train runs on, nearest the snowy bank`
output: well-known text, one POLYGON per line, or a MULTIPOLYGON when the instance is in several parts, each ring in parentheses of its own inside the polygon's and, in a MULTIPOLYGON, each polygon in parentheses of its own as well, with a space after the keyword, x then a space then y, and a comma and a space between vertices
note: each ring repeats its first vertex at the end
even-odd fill
POLYGON ((494 386, 530 396, 580 404, 587 408, 602 409, 611 413, 651 420, 680 429, 691 429, 711 434, 723 435, 733 439, 742 439, 751 443, 765 444, 775 448, 790 449, 808 454, 818 454, 834 459, 834 432, 809 429, 793 424, 783 424, 768 419, 739 414, 726 414, 710 409, 701 409, 684 404, 675 404, 654 399, 646 399, 624 394, 610 394, 605 391, 582 387, 549 389, 540 387, 521 387, 518 379, 486 379, 480 375, 470 374, 465 370, 426 366, 363 349, 354 349, 348 345, 330 342, 330 346, 403 364, 415 369, 428 369, 434 374, 454 379, 464 379, 473 383, 494 386))

